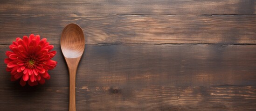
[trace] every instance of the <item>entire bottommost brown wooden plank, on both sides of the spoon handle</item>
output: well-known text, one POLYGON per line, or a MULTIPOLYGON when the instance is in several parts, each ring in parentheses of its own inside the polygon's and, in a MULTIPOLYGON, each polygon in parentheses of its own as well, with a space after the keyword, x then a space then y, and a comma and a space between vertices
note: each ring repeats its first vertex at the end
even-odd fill
MULTIPOLYGON (((0 87, 2 111, 67 111, 68 87, 0 87), (18 105, 21 104, 22 105, 18 105), (40 106, 40 107, 39 107, 40 106)), ((255 111, 255 86, 79 86, 77 111, 255 111)))

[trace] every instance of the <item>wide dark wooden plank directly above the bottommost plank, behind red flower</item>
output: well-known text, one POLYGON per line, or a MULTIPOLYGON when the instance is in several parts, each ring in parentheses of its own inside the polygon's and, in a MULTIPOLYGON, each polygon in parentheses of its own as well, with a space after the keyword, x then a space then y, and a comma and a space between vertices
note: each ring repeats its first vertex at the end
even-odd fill
MULTIPOLYGON (((0 45, 4 54, 7 45, 0 45)), ((86 45, 76 86, 255 86, 256 45, 86 45)), ((46 86, 68 86, 59 45, 46 86)), ((0 86, 9 80, 0 55, 0 86)))

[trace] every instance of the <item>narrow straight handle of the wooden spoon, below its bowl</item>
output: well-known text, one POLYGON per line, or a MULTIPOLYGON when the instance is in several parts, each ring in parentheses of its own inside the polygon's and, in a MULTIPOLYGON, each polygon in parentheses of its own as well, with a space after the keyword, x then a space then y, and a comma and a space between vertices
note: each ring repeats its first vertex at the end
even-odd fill
POLYGON ((69 111, 76 111, 76 68, 69 68, 69 111))

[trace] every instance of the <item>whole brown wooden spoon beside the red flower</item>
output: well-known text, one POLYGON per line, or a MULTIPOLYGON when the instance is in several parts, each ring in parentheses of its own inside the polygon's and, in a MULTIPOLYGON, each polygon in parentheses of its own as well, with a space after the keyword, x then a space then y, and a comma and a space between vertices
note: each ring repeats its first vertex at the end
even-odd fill
POLYGON ((67 25, 62 31, 61 49, 69 68, 69 111, 76 111, 76 69, 84 47, 81 27, 74 23, 67 25))

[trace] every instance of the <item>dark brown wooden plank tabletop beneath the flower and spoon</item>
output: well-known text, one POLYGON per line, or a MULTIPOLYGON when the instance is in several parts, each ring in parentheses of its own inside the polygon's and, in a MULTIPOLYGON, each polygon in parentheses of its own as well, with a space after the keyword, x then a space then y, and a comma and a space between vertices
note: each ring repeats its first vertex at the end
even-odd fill
POLYGON ((65 25, 84 31, 77 111, 256 111, 255 0, 1 0, 0 111, 67 111, 65 25), (58 64, 44 85, 6 72, 16 37, 40 34, 58 64))

